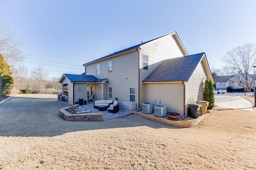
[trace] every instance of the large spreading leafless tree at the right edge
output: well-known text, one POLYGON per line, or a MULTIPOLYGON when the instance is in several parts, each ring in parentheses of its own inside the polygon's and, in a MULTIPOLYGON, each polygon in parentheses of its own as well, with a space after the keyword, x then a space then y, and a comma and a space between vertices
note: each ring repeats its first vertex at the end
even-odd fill
MULTIPOLYGON (((244 80, 248 82, 248 74, 256 64, 256 47, 252 43, 236 47, 222 59, 230 67, 239 70, 244 80)), ((242 86, 249 90, 248 86, 242 86)))

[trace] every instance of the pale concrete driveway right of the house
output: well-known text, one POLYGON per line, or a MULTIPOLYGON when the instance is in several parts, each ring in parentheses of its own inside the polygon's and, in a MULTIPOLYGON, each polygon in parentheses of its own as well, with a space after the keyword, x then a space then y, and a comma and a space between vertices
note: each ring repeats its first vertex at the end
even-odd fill
MULTIPOLYGON (((253 105, 250 101, 242 98, 244 93, 225 93, 215 94, 215 105, 230 109, 243 109, 253 111, 253 105)), ((246 93, 246 95, 253 95, 246 93)))

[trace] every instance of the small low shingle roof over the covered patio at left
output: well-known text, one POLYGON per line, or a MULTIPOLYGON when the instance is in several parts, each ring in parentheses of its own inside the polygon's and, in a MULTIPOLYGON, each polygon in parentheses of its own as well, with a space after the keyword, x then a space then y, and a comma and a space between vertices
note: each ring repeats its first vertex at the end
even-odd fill
POLYGON ((102 82, 104 80, 107 80, 108 78, 104 78, 104 79, 98 79, 94 76, 90 76, 90 75, 84 75, 83 74, 64 74, 64 76, 66 76, 66 78, 68 78, 68 80, 70 80, 70 82, 102 82))

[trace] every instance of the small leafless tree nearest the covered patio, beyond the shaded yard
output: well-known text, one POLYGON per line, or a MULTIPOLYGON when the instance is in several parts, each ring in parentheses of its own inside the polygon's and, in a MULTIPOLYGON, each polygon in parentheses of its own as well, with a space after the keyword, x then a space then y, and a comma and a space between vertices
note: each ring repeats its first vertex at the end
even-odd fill
POLYGON ((44 67, 42 65, 38 65, 36 68, 32 71, 33 77, 38 81, 38 84, 36 84, 36 89, 38 90, 38 93, 42 93, 42 80, 48 75, 48 70, 44 70, 44 67))

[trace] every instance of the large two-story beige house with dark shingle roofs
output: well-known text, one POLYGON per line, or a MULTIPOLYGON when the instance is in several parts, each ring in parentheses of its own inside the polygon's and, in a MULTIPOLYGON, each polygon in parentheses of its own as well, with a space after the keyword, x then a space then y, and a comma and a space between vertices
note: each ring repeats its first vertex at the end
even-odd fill
POLYGON ((203 100, 206 78, 212 80, 205 53, 188 55, 176 32, 84 66, 84 75, 63 74, 59 80, 68 84, 72 104, 95 94, 95 100, 117 98, 120 105, 135 102, 136 109, 151 102, 187 116, 188 104, 203 100))

